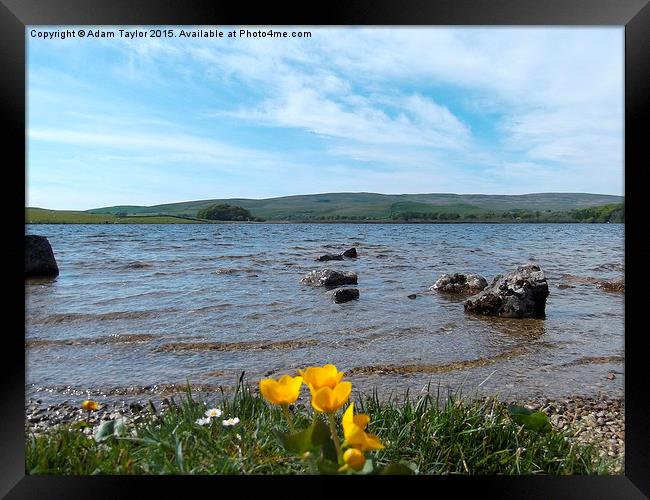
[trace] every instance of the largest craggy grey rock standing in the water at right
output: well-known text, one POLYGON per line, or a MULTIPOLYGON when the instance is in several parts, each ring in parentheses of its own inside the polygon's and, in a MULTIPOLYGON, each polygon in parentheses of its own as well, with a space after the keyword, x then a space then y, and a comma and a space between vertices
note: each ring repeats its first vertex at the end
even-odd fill
POLYGON ((535 264, 496 276, 489 287, 465 302, 465 311, 506 318, 543 318, 548 297, 544 271, 535 264))

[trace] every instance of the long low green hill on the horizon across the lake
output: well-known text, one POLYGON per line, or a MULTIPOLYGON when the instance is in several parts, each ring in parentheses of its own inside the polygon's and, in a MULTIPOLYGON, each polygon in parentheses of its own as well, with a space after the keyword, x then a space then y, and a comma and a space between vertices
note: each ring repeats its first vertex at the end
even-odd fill
MULTIPOLYGON (((457 215, 499 218, 504 212, 560 213, 610 204, 622 204, 622 196, 588 193, 485 194, 377 194, 323 193, 261 200, 226 198, 167 203, 154 206, 120 205, 95 208, 89 214, 170 215, 196 217, 213 204, 236 205, 265 220, 395 220, 404 214, 457 215)), ((540 214, 536 214, 539 217, 540 214)), ((413 218, 413 217, 411 217, 413 218)), ((417 218, 417 217, 415 217, 417 218)), ((440 217, 439 217, 440 218, 440 217)), ((456 217, 451 217, 456 218, 456 217)), ((440 218, 442 219, 442 218, 440 218)))

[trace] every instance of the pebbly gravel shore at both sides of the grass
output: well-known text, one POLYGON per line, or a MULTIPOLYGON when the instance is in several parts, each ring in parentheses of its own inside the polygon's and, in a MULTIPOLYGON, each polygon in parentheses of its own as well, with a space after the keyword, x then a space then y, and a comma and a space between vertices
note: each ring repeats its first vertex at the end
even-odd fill
MULTIPOLYGON (((564 432, 576 444, 594 445, 601 457, 612 461, 612 474, 624 473, 625 456, 625 401, 607 395, 597 397, 571 396, 564 399, 533 398, 527 401, 506 401, 540 410, 549 416, 551 424, 564 432)), ((155 411, 164 410, 168 400, 155 405, 155 411)), ((103 420, 118 416, 127 422, 142 421, 153 410, 152 403, 107 404, 90 414, 79 405, 63 402, 45 406, 40 400, 30 400, 26 405, 27 434, 40 434, 56 426, 69 426, 86 420, 93 427, 103 420)), ((91 433, 90 428, 84 429, 91 433)))

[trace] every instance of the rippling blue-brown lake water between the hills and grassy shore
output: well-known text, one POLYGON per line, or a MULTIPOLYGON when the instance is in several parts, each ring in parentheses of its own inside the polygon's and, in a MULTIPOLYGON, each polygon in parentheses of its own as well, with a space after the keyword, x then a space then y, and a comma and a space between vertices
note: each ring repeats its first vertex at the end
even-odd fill
POLYGON ((49 239, 60 269, 25 284, 27 397, 146 399, 325 363, 382 393, 430 382, 503 397, 623 394, 624 294, 562 277, 621 278, 623 224, 26 230, 49 239), (315 261, 353 246, 357 259, 315 261), (545 319, 477 317, 463 297, 429 290, 443 273, 490 282, 530 261, 548 280, 545 319), (358 273, 359 300, 335 304, 300 283, 326 267, 358 273))

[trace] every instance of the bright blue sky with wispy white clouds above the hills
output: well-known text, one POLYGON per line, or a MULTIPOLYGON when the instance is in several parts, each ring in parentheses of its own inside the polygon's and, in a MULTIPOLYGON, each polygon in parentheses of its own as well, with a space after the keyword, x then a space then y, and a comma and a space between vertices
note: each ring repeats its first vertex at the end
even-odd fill
POLYGON ((159 28, 26 28, 28 206, 623 194, 623 27, 159 28))

